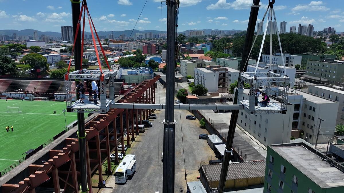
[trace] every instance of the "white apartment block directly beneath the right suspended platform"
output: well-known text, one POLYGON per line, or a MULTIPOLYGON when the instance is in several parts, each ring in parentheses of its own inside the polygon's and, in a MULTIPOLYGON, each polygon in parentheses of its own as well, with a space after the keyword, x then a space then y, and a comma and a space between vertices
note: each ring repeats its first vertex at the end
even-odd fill
MULTIPOLYGON (((248 89, 244 90, 244 100, 248 100, 248 89)), ((259 96, 261 101, 261 96, 259 96)), ((287 105, 287 114, 248 114, 240 110, 237 124, 255 137, 260 143, 270 144, 289 143, 291 136, 294 105, 287 105)))

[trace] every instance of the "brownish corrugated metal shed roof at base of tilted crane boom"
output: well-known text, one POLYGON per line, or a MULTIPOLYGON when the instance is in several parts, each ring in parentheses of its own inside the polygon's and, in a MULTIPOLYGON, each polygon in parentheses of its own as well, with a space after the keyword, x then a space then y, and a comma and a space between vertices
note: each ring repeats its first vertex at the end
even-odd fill
MULTIPOLYGON (((226 180, 260 178, 265 176, 266 161, 247 161, 230 163, 226 180)), ((209 182, 219 181, 222 163, 202 165, 209 182)))

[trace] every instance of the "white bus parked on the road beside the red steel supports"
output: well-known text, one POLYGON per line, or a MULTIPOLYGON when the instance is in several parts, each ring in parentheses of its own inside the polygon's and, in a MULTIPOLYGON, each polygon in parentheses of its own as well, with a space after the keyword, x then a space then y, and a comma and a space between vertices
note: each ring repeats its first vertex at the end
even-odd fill
POLYGON ((126 155, 115 171, 115 182, 125 184, 136 170, 135 155, 126 155))

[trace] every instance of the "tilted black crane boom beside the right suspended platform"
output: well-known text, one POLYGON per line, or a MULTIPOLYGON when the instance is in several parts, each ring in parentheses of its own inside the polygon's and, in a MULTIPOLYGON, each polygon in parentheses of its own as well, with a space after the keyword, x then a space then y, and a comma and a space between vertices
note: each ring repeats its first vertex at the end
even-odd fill
MULTIPOLYGON (((260 0, 253 0, 253 5, 251 6, 251 13, 250 13, 250 18, 248 21, 248 26, 247 26, 247 31, 246 31, 246 41, 245 41, 245 46, 244 46, 244 53, 243 53, 243 58, 242 58, 241 64, 240 64, 240 72, 247 70, 249 52, 250 52, 250 48, 252 46, 253 37, 254 37, 254 33, 255 33, 255 28, 256 28, 256 23, 257 23, 259 2, 260 2, 260 0)), ((269 1, 269 5, 270 5, 270 3, 273 4, 274 2, 275 2, 275 0, 272 0, 272 2, 269 1)), ((271 6, 272 6, 272 4, 271 4, 271 6)), ((257 62, 259 62, 259 61, 257 61, 257 62)), ((239 83, 239 81, 238 81, 238 83, 239 83)), ((234 104, 237 104, 237 99, 238 99, 238 90, 235 91, 234 101, 233 101, 234 104)), ((238 120, 238 115, 239 115, 239 110, 233 110, 232 115, 230 117, 230 124, 229 124, 229 128, 228 128, 226 148, 225 148, 224 158, 223 158, 223 162, 222 162, 219 185, 217 188, 218 193, 223 193, 225 190, 227 171, 228 171, 228 166, 229 166, 230 154, 233 151, 232 146, 233 146, 233 139, 234 139, 236 123, 238 120)))

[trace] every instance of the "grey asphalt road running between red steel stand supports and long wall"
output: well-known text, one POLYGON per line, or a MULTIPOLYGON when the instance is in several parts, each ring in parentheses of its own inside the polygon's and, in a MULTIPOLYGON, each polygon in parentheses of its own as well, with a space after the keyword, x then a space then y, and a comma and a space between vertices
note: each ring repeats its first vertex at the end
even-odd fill
MULTIPOLYGON (((160 87, 160 84, 158 84, 160 87)), ((165 90, 158 88, 156 91, 156 103, 165 103, 165 90), (160 93, 160 102, 159 94, 160 93)), ((148 128, 145 133, 137 137, 136 142, 132 143, 129 154, 134 154, 137 159, 137 171, 132 179, 126 184, 116 184, 113 193, 118 192, 162 192, 162 162, 161 153, 163 149, 163 124, 165 116, 164 110, 157 110, 156 120, 151 120, 153 127, 148 128)), ((196 181, 199 174, 198 167, 200 160, 208 162, 214 158, 214 152, 208 146, 206 140, 198 139, 201 133, 207 133, 205 129, 199 128, 197 120, 185 120, 185 116, 190 112, 182 110, 175 111, 176 125, 176 145, 175 145, 175 192, 179 192, 182 187, 186 191, 184 180, 184 159, 182 148, 182 134, 180 117, 182 117, 183 141, 185 152, 185 164, 188 181, 196 181)))

